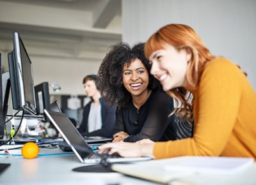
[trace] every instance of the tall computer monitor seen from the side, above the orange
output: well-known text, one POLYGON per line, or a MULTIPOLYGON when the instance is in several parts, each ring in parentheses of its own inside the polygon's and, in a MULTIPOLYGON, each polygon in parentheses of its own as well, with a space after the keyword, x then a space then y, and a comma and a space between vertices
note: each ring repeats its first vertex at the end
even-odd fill
POLYGON ((13 33, 13 51, 8 53, 14 110, 36 115, 32 63, 18 32, 13 33))

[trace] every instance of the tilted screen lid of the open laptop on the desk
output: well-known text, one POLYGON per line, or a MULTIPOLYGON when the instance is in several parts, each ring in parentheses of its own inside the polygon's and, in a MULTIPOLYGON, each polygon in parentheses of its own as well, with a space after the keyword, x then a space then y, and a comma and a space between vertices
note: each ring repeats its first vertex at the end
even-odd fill
POLYGON ((58 131, 60 131, 61 135, 63 135, 63 138, 67 143, 71 145, 73 151, 80 156, 80 159, 83 159, 88 156, 88 154, 92 153, 89 145, 86 144, 84 138, 68 119, 67 115, 60 112, 52 112, 50 110, 44 110, 44 112, 49 117, 52 124, 54 124, 58 131))

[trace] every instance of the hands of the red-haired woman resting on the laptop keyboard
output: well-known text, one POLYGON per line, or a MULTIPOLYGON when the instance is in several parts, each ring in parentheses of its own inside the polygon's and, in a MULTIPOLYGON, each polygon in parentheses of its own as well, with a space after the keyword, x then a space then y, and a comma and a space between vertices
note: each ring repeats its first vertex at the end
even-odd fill
POLYGON ((117 152, 122 157, 141 157, 149 156, 154 158, 153 149, 155 142, 152 140, 144 139, 136 143, 130 142, 117 142, 117 143, 108 143, 101 145, 99 147, 99 153, 104 153, 108 151, 109 154, 117 152))

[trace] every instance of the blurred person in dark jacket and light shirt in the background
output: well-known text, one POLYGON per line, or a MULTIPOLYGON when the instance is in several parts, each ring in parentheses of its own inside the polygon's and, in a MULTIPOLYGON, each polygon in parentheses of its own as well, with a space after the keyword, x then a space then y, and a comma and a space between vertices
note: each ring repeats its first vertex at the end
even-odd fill
POLYGON ((112 137, 116 107, 101 98, 97 75, 84 77, 83 85, 87 96, 92 98, 92 101, 83 108, 83 120, 78 131, 86 137, 112 137))

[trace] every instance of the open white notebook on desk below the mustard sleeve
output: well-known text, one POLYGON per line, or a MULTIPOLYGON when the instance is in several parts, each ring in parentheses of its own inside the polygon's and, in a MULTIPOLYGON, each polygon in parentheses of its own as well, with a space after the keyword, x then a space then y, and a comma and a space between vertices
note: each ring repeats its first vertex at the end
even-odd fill
POLYGON ((194 177, 195 174, 227 176, 227 174, 234 174, 243 170, 252 165, 253 162, 253 158, 182 156, 144 161, 132 165, 115 164, 111 168, 122 174, 168 184, 173 179, 194 177))

